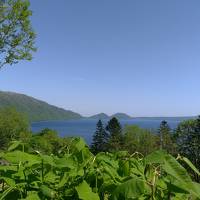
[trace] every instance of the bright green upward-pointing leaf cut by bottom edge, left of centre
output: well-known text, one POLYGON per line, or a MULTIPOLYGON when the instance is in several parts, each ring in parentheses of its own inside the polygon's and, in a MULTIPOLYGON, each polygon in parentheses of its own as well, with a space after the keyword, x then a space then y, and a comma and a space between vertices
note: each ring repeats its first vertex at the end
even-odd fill
POLYGON ((82 200, 100 200, 97 193, 92 192, 92 188, 83 181, 79 186, 76 187, 78 196, 82 200))

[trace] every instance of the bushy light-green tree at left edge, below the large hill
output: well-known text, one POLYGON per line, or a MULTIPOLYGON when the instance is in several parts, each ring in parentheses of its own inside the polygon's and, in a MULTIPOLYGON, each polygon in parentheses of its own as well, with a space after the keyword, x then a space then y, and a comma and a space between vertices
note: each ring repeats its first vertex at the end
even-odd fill
POLYGON ((12 140, 20 139, 29 132, 29 122, 26 116, 14 108, 0 110, 0 148, 4 149, 12 140))

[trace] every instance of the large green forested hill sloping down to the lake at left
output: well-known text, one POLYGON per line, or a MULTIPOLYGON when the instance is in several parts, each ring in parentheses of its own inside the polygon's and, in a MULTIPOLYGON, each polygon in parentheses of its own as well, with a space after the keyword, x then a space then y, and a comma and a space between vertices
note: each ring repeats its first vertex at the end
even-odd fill
POLYGON ((0 108, 15 107, 25 113, 30 121, 79 119, 78 113, 49 105, 33 97, 14 92, 0 91, 0 108))

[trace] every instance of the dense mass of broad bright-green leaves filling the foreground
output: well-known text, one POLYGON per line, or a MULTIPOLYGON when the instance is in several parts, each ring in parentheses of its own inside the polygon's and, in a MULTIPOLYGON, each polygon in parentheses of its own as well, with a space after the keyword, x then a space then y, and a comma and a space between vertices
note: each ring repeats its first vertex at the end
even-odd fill
POLYGON ((164 151, 95 156, 84 140, 74 138, 57 156, 28 152, 15 141, 0 157, 0 200, 200 199, 200 184, 179 161, 199 171, 186 158, 164 151))

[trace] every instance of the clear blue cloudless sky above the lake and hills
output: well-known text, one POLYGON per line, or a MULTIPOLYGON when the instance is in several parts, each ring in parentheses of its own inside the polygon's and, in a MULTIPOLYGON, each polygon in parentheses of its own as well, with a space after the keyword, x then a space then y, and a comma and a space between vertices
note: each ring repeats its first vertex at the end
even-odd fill
POLYGON ((38 51, 0 89, 92 115, 200 114, 199 0, 31 0, 38 51))

